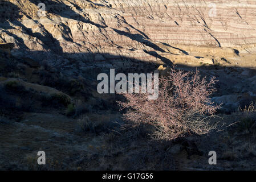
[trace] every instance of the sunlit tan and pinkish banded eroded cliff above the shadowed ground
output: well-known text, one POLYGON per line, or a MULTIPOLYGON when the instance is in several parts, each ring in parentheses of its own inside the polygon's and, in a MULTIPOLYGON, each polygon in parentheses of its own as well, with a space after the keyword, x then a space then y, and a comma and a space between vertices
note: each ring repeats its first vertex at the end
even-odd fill
POLYGON ((1 1, 0 42, 15 43, 13 55, 85 69, 134 60, 214 64, 225 56, 235 64, 256 50, 255 1, 53 0, 43 2, 45 16, 39 3, 1 1))

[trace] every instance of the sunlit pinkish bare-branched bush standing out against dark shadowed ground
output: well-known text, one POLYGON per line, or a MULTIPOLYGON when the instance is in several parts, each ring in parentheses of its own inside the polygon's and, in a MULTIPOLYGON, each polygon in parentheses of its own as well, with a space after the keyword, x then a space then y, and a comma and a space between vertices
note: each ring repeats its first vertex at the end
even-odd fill
POLYGON ((127 101, 119 102, 127 109, 124 119, 132 126, 153 126, 150 134, 155 139, 170 140, 191 134, 207 134, 216 128, 207 118, 213 116, 219 105, 210 95, 216 91, 216 78, 200 78, 198 71, 185 72, 170 69, 168 76, 159 78, 159 97, 148 100, 148 93, 124 93, 127 101))

